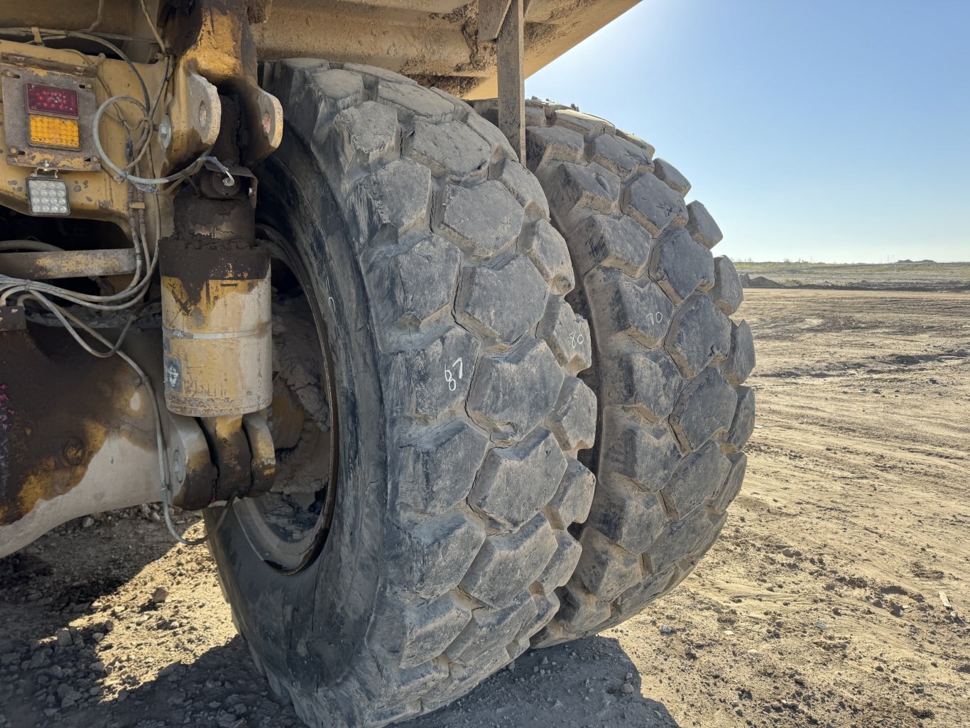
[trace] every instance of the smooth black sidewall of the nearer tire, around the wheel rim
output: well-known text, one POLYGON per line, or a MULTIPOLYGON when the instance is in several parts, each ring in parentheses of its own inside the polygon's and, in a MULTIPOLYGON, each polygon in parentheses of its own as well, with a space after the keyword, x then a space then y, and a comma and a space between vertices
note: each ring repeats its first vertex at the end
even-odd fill
MULTIPOLYGON (((295 135, 284 137, 257 172, 257 218, 299 256, 330 339, 339 400, 333 408, 339 427, 333 522, 313 563, 292 575, 255 552, 233 513, 210 539, 216 561, 233 565, 219 569, 219 579, 250 651, 268 675, 287 676, 290 690, 308 693, 338 681, 364 646, 387 506, 386 423, 368 297, 345 221, 310 159, 295 135), (314 685, 301 684, 307 676, 314 685)), ((216 515, 207 513, 208 527, 216 515)))

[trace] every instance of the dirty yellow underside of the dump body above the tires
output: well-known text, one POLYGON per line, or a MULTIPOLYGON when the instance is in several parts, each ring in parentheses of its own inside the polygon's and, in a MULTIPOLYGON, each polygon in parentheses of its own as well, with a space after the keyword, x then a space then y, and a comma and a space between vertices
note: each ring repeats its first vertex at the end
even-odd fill
MULTIPOLYGON (((242 0, 232 2, 239 4, 242 0)), ((502 2, 499 0, 500 5, 502 2)), ((525 8, 526 75, 555 60, 637 2, 530 0, 525 8)), ((504 4, 507 6, 507 2, 504 4)), ((82 29, 94 19, 93 8, 64 0, 38 0, 30 4, 29 11, 16 3, 4 5, 12 7, 0 8, 0 25, 52 23, 54 27, 82 29)), ((148 0, 147 6, 152 12, 158 3, 148 0)), ((241 13, 254 21, 252 41, 260 60, 314 56, 369 63, 468 98, 498 95, 495 44, 478 37, 478 0, 249 0, 241 13)), ((146 38, 141 16, 133 12, 129 0, 106 0, 102 29, 146 38)), ((486 35, 491 32, 486 31, 486 35)), ((495 33, 493 38, 498 35, 497 29, 495 33)))

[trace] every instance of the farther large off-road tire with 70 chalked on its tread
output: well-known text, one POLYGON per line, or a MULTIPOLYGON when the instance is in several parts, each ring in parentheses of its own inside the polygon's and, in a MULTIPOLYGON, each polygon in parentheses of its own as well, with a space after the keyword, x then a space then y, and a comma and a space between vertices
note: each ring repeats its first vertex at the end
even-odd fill
POLYGON ((595 116, 527 102, 528 166, 566 238, 590 319, 598 395, 593 507, 563 607, 536 645, 596 633, 640 612, 694 569, 724 526, 754 427, 742 386, 751 330, 721 231, 690 183, 645 142, 595 116))

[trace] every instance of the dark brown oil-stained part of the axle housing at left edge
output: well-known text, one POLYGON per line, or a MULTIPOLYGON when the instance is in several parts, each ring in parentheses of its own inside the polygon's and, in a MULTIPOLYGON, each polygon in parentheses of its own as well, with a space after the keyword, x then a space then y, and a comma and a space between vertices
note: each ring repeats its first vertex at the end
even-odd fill
MULTIPOLYGON (((70 493, 109 442, 118 451, 127 444, 133 462, 155 452, 147 390, 134 371, 90 356, 59 329, 0 331, 0 527, 70 493)), ((102 475, 102 494, 76 515, 112 502, 113 488, 142 487, 102 475)))

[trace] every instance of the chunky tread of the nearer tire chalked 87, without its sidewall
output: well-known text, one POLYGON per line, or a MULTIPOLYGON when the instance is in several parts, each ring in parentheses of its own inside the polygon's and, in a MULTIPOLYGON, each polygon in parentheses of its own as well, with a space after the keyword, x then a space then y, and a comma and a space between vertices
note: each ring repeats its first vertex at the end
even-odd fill
POLYGON ((593 497, 577 460, 596 428, 576 379, 589 328, 541 188, 467 104, 357 64, 276 61, 261 78, 359 261, 391 475, 350 669, 324 683, 254 657, 308 724, 376 728, 467 693, 558 611, 580 550, 567 529, 593 497))

